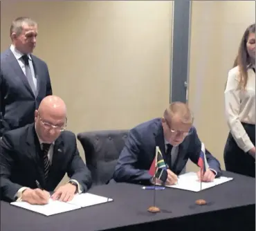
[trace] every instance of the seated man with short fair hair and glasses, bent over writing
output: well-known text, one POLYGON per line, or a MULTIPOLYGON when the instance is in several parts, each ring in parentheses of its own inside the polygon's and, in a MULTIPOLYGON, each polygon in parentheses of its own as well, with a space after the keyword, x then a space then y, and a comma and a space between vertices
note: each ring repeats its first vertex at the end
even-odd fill
MULTIPOLYGON (((188 162, 188 158, 197 164, 201 152, 201 141, 196 129, 192 127, 192 113, 187 104, 174 102, 165 110, 163 118, 149 120, 131 129, 124 149, 120 154, 113 179, 116 182, 152 183, 149 169, 159 147, 167 165, 166 184, 177 182, 177 175, 188 162)), ((209 167, 201 181, 213 181, 220 176, 219 161, 205 150, 209 167)), ((160 180, 156 180, 156 183, 160 180)))

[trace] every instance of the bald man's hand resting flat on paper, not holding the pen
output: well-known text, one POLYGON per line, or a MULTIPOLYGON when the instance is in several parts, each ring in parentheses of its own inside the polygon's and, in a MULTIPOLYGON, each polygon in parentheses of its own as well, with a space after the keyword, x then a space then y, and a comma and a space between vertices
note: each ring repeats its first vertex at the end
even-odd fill
POLYGON ((66 185, 60 186, 57 188, 53 196, 51 197, 53 200, 58 201, 71 201, 75 195, 76 187, 75 185, 71 185, 71 183, 67 183, 66 185))

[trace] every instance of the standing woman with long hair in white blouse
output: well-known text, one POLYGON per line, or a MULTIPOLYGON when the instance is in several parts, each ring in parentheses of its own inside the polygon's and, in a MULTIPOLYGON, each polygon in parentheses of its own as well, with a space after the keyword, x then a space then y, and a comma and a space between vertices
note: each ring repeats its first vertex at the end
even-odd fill
POLYGON ((241 39, 225 90, 230 133, 224 149, 226 170, 255 177, 255 24, 241 39))

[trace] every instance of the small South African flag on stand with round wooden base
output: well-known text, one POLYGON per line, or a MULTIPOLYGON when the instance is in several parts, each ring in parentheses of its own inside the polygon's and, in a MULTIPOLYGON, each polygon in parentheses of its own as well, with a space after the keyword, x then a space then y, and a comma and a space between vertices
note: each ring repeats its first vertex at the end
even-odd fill
POLYGON ((158 146, 156 146, 156 156, 152 162, 152 165, 149 169, 149 174, 153 176, 154 183, 154 200, 153 206, 148 208, 148 212, 160 212, 160 209, 156 207, 156 179, 159 179, 165 183, 167 180, 167 167, 165 165, 165 160, 158 146))

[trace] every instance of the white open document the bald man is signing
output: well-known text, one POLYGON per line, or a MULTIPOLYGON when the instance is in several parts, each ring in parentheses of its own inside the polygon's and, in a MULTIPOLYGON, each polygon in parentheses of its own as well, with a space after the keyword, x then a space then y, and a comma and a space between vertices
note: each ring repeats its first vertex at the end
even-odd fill
POLYGON ((68 202, 53 201, 52 199, 50 199, 49 203, 46 205, 30 205, 25 201, 12 202, 10 204, 18 207, 23 207, 26 210, 38 212, 46 216, 51 216, 53 214, 68 212, 71 210, 78 210, 82 207, 98 205, 101 203, 107 203, 109 201, 113 201, 113 199, 104 196, 98 196, 95 194, 84 193, 76 194, 72 201, 68 202))

